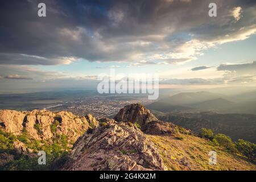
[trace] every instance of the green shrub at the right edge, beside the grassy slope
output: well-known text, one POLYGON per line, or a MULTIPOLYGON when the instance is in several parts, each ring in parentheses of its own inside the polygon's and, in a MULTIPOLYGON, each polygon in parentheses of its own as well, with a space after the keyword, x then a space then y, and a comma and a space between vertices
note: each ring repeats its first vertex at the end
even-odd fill
POLYGON ((256 144, 239 139, 236 143, 236 147, 238 152, 241 152, 241 154, 245 155, 248 159, 256 162, 256 144))

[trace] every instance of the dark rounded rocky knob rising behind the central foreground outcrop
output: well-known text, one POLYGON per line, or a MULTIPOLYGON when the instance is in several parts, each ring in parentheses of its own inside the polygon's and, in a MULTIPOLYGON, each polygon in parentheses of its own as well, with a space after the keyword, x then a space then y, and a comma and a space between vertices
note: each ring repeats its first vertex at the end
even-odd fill
POLYGON ((141 104, 131 104, 123 107, 114 117, 117 122, 132 122, 141 126, 141 130, 147 134, 172 134, 175 125, 159 121, 150 110, 141 104))

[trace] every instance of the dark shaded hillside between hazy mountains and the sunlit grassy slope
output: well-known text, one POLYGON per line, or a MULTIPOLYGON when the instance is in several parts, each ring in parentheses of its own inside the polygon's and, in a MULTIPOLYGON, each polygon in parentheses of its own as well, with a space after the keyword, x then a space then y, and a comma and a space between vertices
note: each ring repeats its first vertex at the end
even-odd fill
POLYGON ((199 133, 201 128, 212 129, 214 133, 223 133, 233 140, 245 139, 256 143, 256 115, 254 114, 218 114, 201 113, 154 113, 159 119, 172 122, 199 133))

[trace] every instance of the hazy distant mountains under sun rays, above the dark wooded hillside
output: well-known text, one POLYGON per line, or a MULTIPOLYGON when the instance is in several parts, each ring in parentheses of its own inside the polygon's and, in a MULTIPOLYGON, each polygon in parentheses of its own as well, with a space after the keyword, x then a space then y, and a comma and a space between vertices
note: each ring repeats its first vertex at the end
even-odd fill
POLYGON ((186 92, 160 98, 147 107, 164 113, 186 110, 214 110, 218 113, 256 114, 256 92, 226 96, 211 92, 186 92))

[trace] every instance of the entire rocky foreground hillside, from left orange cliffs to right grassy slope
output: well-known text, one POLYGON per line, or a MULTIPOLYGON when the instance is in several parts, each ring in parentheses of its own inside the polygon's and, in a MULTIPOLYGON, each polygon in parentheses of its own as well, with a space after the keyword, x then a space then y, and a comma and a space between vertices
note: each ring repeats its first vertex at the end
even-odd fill
POLYGON ((2 136, 0 139, 2 141, 7 138, 5 140, 6 148, 3 148, 1 145, 0 161, 2 165, 5 164, 1 169, 24 169, 22 168, 24 166, 26 166, 25 169, 27 170, 40 169, 38 166, 32 166, 32 164, 36 165, 36 151, 46 150, 52 144, 58 145, 60 151, 67 151, 68 155, 64 157, 63 155, 53 155, 54 159, 51 159, 49 161, 51 163, 47 166, 48 168, 44 169, 136 171, 256 169, 255 164, 249 162, 245 156, 232 152, 225 147, 216 146, 207 139, 196 137, 190 130, 172 123, 160 121, 150 113, 150 110, 140 104, 123 107, 115 115, 114 119, 102 118, 96 121, 92 116, 76 117, 72 113, 64 114, 70 116, 68 117, 68 123, 71 124, 69 126, 77 123, 77 126, 81 126, 82 130, 85 131, 71 131, 73 134, 76 132, 77 135, 75 136, 78 137, 79 134, 81 136, 77 138, 75 144, 71 142, 73 141, 72 135, 69 135, 71 133, 64 133, 65 130, 72 130, 73 127, 68 128, 67 125, 63 125, 67 122, 63 123, 66 120, 63 119, 65 118, 64 115, 60 114, 62 112, 34 111, 34 113, 30 113, 27 111, 2 110, 0 113, 2 136), (39 118, 39 120, 35 119, 35 123, 33 123, 36 129, 38 129, 37 122, 40 123, 40 130, 37 131, 39 139, 35 139, 30 134, 32 130, 24 125, 24 123, 27 123, 27 119, 24 118, 29 117, 30 114, 34 114, 36 118, 39 118), (44 114, 46 115, 44 116, 44 114), (45 119, 40 120, 42 117, 45 119), (44 126, 51 128, 55 117, 62 119, 59 120, 60 123, 57 125, 56 130, 51 131, 52 137, 46 139, 44 126), (12 123, 21 123, 21 126, 15 127, 11 125, 12 123), (44 125, 44 123, 47 124, 44 125), (26 133, 27 142, 23 140, 23 143, 20 140, 20 136, 24 135, 24 129, 31 131, 26 133), (69 144, 71 146, 73 144, 72 150, 70 148, 63 148, 63 144, 57 143, 55 139, 56 133, 67 135, 67 140, 70 140, 69 144), (16 138, 13 136, 16 136, 16 138), (34 139, 48 145, 44 148, 40 148, 40 144, 37 146, 33 145, 34 150, 29 150, 31 149, 30 141, 34 139), (22 142, 27 150, 26 154, 19 153, 19 158, 16 158, 18 154, 14 152, 18 148, 11 148, 13 153, 10 153, 10 148, 8 148, 17 141, 22 142), (208 154, 212 150, 217 152, 217 165, 209 165, 208 154), (13 155, 13 157, 10 155, 13 155), (27 157, 24 158, 23 156, 27 157), (27 165, 27 163, 30 165, 27 165))

